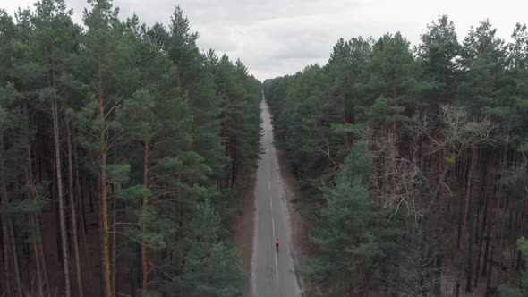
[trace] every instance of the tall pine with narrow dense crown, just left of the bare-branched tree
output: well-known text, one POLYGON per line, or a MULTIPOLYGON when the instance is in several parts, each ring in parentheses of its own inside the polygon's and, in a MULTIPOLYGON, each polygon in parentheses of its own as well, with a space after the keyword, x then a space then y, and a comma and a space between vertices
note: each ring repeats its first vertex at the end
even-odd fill
POLYGON ((370 58, 370 80, 365 86, 370 93, 370 102, 362 106, 358 115, 369 123, 373 137, 386 143, 383 155, 377 161, 379 176, 384 176, 379 188, 387 199, 396 194, 396 156, 402 150, 405 138, 400 127, 409 122, 409 115, 420 106, 416 94, 424 88, 419 78, 418 64, 413 59, 409 42, 397 32, 384 35, 372 46, 370 58))

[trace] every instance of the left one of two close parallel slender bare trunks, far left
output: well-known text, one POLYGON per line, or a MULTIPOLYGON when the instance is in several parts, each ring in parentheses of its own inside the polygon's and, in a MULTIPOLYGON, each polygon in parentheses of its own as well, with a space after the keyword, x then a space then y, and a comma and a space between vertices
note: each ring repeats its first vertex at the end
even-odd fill
POLYGON ((55 95, 51 98, 51 110, 53 120, 53 138, 55 142, 55 170, 57 179, 57 199, 59 202, 59 222, 61 227, 61 246, 63 250, 63 268, 64 268, 64 290, 66 297, 72 295, 72 288, 70 286, 70 265, 68 257, 68 234, 66 229, 66 219, 64 216, 64 195, 63 195, 63 175, 61 169, 61 150, 59 141, 59 115, 57 100, 55 95))

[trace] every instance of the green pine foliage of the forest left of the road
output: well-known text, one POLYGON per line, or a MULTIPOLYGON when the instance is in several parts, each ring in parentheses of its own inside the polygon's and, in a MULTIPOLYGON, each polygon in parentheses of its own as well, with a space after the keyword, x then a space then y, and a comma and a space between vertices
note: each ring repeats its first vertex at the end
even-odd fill
MULTIPOLYGON (((115 275, 136 284, 147 247, 151 285, 132 294, 241 295, 242 267, 223 241, 239 209, 236 187, 259 156, 260 81, 240 61, 200 53, 179 7, 166 29, 137 15, 121 21, 111 1, 89 1, 83 23, 64 0, 39 1, 15 18, 0 10, 2 218, 39 241, 39 226, 27 221, 56 207, 47 198, 56 191, 55 156, 47 155, 56 120, 74 200, 101 203, 106 174, 110 209, 102 216, 121 249, 115 275), (171 288, 176 279, 184 281, 171 288)), ((66 182, 63 190, 70 194, 66 182)))

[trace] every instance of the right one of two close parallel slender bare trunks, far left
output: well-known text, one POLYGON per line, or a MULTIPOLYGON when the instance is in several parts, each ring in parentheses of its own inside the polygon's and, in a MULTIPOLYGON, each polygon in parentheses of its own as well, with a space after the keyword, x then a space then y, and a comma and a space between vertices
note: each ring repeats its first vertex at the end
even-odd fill
POLYGON ((75 256, 75 273, 77 275, 77 291, 79 297, 82 293, 81 260, 79 256, 79 241, 77 240, 77 211, 73 197, 73 162, 72 162, 72 131, 70 130, 70 119, 66 116, 66 139, 68 143, 68 197, 70 199, 70 212, 72 221, 73 254, 75 256))

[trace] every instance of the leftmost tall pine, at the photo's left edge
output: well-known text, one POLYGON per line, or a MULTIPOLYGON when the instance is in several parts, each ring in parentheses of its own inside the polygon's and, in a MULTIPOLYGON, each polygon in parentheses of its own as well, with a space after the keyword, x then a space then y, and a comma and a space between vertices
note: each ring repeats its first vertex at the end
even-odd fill
MULTIPOLYGON (((6 53, 9 53, 10 58, 7 63, 4 64, 5 69, 4 73, 5 80, 3 81, 6 84, 8 89, 11 89, 7 94, 11 94, 9 97, 15 99, 11 101, 12 106, 19 110, 23 122, 18 123, 21 129, 20 135, 16 139, 20 140, 20 144, 23 147, 23 150, 19 151, 20 155, 17 157, 22 157, 25 161, 24 164, 18 165, 17 168, 21 168, 22 171, 14 170, 13 171, 13 185, 18 184, 20 181, 24 184, 25 190, 20 191, 17 186, 15 186, 10 192, 12 195, 16 195, 20 199, 17 199, 20 202, 13 203, 12 205, 12 214, 13 220, 8 222, 9 233, 21 233, 21 232, 30 232, 32 242, 32 248, 35 255, 35 263, 37 265, 37 281, 36 284, 37 292, 44 292, 49 288, 47 282, 47 267, 44 259, 44 252, 42 250, 42 245, 40 243, 40 225, 38 220, 38 215, 42 210, 42 207, 46 204, 43 203, 46 199, 44 197, 39 197, 42 195, 40 185, 34 181, 34 175, 32 173, 32 153, 31 148, 35 144, 35 139, 33 133, 35 132, 34 127, 31 124, 31 119, 34 114, 34 108, 37 106, 36 90, 39 86, 39 79, 42 75, 42 71, 39 68, 38 64, 34 62, 34 50, 35 50, 35 40, 33 35, 33 28, 31 24, 32 15, 29 10, 19 10, 16 13, 17 24, 12 31, 6 31, 6 33, 13 33, 11 39, 6 43, 6 53), (17 176, 17 174, 21 174, 17 176), (23 176, 23 177, 22 177, 23 176), (23 199, 22 199, 23 197, 23 199), (30 220, 30 225, 25 225, 23 222, 30 220), (29 228, 28 228, 29 227, 29 228), (30 229, 30 230, 27 230, 30 229)), ((15 141, 18 142, 18 141, 15 141)), ((15 154, 16 156, 16 154, 15 154)), ((14 202, 14 201, 13 201, 14 202)), ((11 242, 11 250, 13 252, 13 257, 19 257, 17 250, 20 250, 21 246, 11 242)), ((13 270, 20 271, 26 268, 26 262, 19 259, 13 258, 13 270), (19 268, 18 263, 21 263, 19 268)), ((66 269, 67 271, 67 269, 66 269)), ((66 275, 66 274, 65 274, 66 275)), ((18 276, 15 278, 17 280, 18 293, 21 293, 21 287, 23 284, 23 278, 20 280, 18 276), (19 282, 20 280, 20 282, 19 282)), ((33 288, 32 288, 33 289, 33 288)), ((36 293, 37 293, 36 292, 36 293)))

